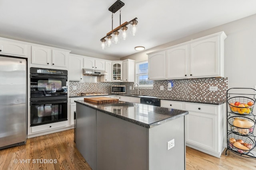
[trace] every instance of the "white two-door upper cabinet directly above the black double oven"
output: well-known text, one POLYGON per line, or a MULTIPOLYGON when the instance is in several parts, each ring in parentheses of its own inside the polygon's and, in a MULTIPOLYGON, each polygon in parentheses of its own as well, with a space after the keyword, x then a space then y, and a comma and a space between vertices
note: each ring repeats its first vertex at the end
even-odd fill
POLYGON ((32 45, 31 64, 67 67, 69 52, 67 50, 51 49, 46 46, 32 45))

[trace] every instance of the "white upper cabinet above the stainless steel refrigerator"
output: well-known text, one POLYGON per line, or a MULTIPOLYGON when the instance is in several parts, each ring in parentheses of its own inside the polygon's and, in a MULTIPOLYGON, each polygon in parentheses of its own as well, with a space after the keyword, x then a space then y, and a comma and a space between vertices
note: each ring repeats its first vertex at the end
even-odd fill
POLYGON ((0 54, 27 57, 27 48, 28 45, 26 43, 4 38, 0 39, 0 54))

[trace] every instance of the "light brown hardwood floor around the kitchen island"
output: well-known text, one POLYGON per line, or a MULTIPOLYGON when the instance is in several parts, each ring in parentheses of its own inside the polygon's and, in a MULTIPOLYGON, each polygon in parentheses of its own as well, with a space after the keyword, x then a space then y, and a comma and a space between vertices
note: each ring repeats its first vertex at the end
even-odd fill
MULTIPOLYGON (((75 147, 73 133, 70 129, 34 137, 26 145, 0 150, 0 170, 91 170, 75 147)), ((186 147, 186 170, 256 170, 256 159, 231 151, 216 158, 186 147)))

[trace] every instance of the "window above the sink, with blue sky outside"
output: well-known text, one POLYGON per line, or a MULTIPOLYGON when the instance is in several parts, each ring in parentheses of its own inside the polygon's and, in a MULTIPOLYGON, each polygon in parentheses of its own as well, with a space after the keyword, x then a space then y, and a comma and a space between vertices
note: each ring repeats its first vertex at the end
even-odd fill
POLYGON ((136 82, 140 87, 153 87, 153 81, 148 80, 148 61, 136 63, 136 82))

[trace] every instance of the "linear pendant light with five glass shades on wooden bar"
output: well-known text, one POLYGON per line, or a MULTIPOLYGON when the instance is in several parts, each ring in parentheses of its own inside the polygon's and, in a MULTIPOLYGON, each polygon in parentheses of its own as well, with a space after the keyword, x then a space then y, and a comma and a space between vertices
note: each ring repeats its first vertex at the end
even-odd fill
POLYGON ((121 24, 121 8, 123 6, 124 6, 124 2, 117 0, 112 6, 110 6, 110 8, 108 8, 108 10, 110 12, 112 12, 112 31, 110 31, 109 33, 106 34, 106 36, 104 36, 102 39, 100 39, 102 49, 106 49, 106 47, 111 47, 112 43, 114 43, 114 44, 119 43, 120 39, 126 40, 127 36, 128 36, 127 35, 127 30, 128 30, 127 25, 129 25, 129 24, 130 24, 130 33, 132 34, 132 36, 135 36, 137 33, 137 24, 138 24, 137 19, 138 18, 134 18, 134 19, 130 20, 129 22, 126 21, 123 24, 121 24), (117 12, 118 10, 120 11, 120 25, 118 27, 116 27, 115 29, 113 29, 113 13, 117 12), (121 32, 121 34, 120 34, 120 32, 121 32))

